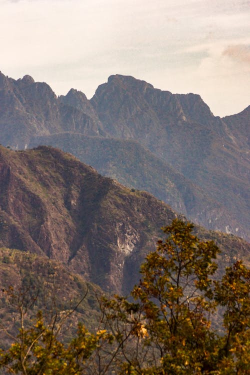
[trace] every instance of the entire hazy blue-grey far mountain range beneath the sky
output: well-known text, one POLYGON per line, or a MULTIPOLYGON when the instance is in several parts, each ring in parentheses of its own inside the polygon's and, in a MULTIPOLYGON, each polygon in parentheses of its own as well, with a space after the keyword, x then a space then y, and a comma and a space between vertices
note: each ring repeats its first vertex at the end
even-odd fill
POLYGON ((130 76, 110 76, 87 100, 74 89, 56 97, 28 75, 0 73, 1 144, 70 151, 188 219, 247 240, 249 118, 250 106, 215 117, 199 95, 171 94, 130 76))

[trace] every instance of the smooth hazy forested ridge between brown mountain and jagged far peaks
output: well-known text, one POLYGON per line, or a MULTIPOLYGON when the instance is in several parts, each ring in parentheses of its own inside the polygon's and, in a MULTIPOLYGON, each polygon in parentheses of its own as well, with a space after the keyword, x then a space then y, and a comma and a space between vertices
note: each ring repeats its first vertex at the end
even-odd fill
MULTIPOLYGON (((131 139, 61 133, 32 138, 33 146, 55 144, 91 164, 102 175, 146 190, 208 229, 226 230, 230 212, 191 180, 131 139)), ((236 220, 230 222, 237 226, 236 220)), ((239 234, 241 231, 239 230, 239 234)))

